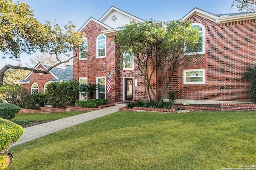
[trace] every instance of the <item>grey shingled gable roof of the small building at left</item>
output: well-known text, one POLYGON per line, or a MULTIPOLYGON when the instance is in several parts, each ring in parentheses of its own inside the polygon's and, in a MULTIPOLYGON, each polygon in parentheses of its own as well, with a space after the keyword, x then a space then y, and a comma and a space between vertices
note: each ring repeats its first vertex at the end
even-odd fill
MULTIPOLYGON (((43 66, 46 70, 53 66, 53 64, 48 64, 48 63, 42 63, 39 62, 34 69, 37 69, 38 66, 43 66)), ((29 76, 33 72, 31 71, 24 80, 20 80, 17 82, 14 82, 15 84, 30 84, 30 79, 29 76)), ((50 70, 50 74, 54 76, 54 78, 50 81, 68 81, 73 79, 73 65, 67 65, 67 66, 56 66, 50 70)))

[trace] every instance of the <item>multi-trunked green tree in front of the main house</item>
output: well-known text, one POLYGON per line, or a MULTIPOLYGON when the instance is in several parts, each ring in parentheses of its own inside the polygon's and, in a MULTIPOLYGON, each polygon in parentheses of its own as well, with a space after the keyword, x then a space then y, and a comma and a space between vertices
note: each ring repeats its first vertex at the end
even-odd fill
MULTIPOLYGON (((159 100, 162 103, 174 72, 191 58, 197 57, 188 54, 197 51, 202 45, 202 36, 198 29, 192 29, 189 21, 172 21, 164 29, 155 25, 152 20, 143 23, 133 20, 118 31, 114 42, 120 53, 126 52, 134 56, 134 63, 144 78, 145 94, 150 101, 158 101, 151 84, 156 68, 167 72, 163 95, 159 100)), ((120 56, 122 60, 123 57, 120 56)))

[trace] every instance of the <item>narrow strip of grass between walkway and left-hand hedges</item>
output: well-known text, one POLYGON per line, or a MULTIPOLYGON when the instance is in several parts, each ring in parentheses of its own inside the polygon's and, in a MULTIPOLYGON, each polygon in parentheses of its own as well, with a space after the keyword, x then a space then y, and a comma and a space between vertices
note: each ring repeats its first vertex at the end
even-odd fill
POLYGON ((18 125, 28 125, 34 121, 56 120, 86 113, 86 111, 67 111, 61 113, 18 113, 12 121, 18 125))

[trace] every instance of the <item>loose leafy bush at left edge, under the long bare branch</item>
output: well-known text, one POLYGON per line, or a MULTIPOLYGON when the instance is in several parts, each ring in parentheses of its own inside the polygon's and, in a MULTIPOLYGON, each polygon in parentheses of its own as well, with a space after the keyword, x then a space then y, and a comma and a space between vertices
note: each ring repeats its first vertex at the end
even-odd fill
POLYGON ((28 90, 18 85, 0 87, 0 99, 20 107, 23 107, 23 99, 26 94, 28 94, 28 90))

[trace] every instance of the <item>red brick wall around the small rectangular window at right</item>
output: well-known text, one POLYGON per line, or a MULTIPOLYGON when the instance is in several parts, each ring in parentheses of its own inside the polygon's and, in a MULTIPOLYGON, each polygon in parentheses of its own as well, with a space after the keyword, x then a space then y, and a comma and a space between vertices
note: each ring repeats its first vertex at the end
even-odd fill
MULTIPOLYGON (((241 78, 246 66, 256 61, 256 19, 218 24, 194 15, 188 20, 205 26, 206 54, 199 62, 181 67, 168 92, 174 90, 178 99, 249 102, 249 82, 241 78), (206 84, 183 84, 183 69, 195 68, 206 68, 206 84)), ((158 82, 161 97, 163 84, 158 82)))

